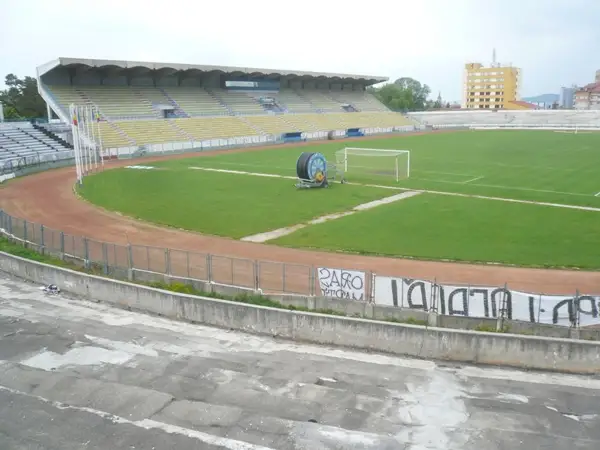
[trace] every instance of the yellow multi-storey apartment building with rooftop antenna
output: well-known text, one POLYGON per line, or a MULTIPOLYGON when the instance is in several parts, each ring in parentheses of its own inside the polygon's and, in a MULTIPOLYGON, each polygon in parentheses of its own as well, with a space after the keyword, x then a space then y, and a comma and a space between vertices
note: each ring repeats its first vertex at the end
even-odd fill
POLYGON ((465 64, 462 107, 468 109, 521 109, 518 103, 521 69, 492 64, 465 64))

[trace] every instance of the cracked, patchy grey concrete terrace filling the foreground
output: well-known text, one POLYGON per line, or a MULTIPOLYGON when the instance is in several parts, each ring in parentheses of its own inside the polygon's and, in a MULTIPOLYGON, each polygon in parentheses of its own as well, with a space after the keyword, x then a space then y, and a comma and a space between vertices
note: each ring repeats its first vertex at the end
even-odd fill
POLYGON ((600 380, 190 325, 0 275, 0 448, 600 448, 600 380))

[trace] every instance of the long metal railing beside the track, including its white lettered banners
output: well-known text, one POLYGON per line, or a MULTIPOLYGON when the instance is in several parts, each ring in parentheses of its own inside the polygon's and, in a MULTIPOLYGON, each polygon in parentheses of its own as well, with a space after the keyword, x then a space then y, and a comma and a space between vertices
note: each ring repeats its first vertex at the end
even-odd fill
MULTIPOLYGON (((444 327, 471 328, 481 326, 481 320, 500 320, 502 326, 507 324, 515 332, 556 337, 569 337, 569 329, 600 325, 600 296, 578 290, 564 295, 524 293, 512 291, 506 284, 494 287, 437 283, 401 276, 380 276, 369 271, 116 244, 54 230, 15 218, 2 210, 0 234, 39 253, 116 279, 187 284, 200 281, 224 286, 225 289, 232 287, 237 292, 285 294, 291 296, 288 299, 293 296, 299 296, 296 297, 298 299, 333 297, 331 302, 320 303, 321 307, 363 316, 367 310, 360 305, 371 304, 375 308, 370 316, 367 314, 370 318, 401 319, 416 315, 426 319, 427 314, 433 312, 440 315, 439 325, 444 327), (335 271, 343 273, 332 277, 335 271), (359 279, 358 285, 348 282, 347 286, 343 286, 344 280, 355 277, 359 279), (334 278, 337 284, 331 282, 334 278), (340 300, 349 303, 344 306, 339 303, 340 300)), ((286 301, 294 304, 292 300, 286 301)), ((490 322, 486 323, 490 326, 490 322)), ((586 338, 600 339, 600 329, 585 332, 586 338)))

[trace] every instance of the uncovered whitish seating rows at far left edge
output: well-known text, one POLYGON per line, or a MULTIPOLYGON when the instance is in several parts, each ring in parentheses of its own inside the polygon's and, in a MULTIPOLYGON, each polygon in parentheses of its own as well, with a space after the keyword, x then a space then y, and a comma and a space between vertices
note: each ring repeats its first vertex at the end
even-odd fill
POLYGON ((29 123, 2 124, 0 161, 28 158, 30 163, 72 157, 72 149, 35 129, 29 123))

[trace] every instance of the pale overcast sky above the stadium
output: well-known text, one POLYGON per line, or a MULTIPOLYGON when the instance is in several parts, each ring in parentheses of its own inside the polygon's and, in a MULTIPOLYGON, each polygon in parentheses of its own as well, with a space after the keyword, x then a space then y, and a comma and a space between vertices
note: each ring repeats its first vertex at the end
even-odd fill
POLYGON ((446 100, 493 48, 524 96, 600 69, 598 0, 0 0, 0 19, 1 87, 58 57, 408 76, 446 100))

